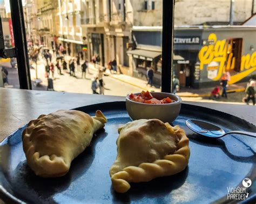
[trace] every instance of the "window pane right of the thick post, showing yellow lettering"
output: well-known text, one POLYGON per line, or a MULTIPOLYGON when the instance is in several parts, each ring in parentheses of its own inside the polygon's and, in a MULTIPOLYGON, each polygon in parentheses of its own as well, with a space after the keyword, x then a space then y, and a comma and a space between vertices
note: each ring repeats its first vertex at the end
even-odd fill
POLYGON ((176 1, 173 73, 179 92, 245 104, 245 89, 255 80, 255 10, 248 1, 176 1))

